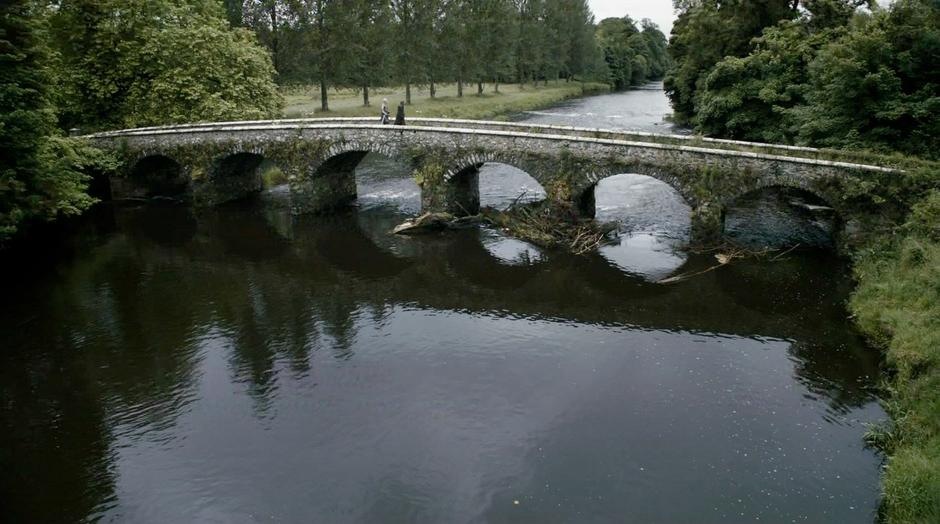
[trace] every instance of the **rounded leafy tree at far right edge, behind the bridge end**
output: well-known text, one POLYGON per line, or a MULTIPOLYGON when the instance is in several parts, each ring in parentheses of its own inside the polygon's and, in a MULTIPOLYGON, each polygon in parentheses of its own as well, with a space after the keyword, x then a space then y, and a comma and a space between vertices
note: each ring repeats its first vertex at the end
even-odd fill
POLYGON ((896 0, 809 64, 799 140, 940 157, 940 4, 896 0))

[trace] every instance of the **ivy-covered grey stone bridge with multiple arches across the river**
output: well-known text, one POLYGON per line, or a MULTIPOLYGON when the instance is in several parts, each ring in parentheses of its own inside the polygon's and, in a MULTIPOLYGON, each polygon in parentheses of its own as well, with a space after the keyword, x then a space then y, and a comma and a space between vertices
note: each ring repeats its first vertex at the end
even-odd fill
MULTIPOLYGON (((479 209, 479 168, 507 164, 532 176, 550 205, 594 214, 594 188, 605 177, 635 173, 673 187, 692 209, 694 241, 721 234, 725 209, 764 188, 802 190, 835 209, 842 223, 859 220, 847 203, 853 184, 893 176, 890 168, 836 162, 825 152, 702 139, 509 122, 411 119, 383 126, 374 119, 300 119, 192 124, 90 135, 116 151, 114 198, 183 196, 197 206, 243 198, 262 188, 261 165, 286 175, 294 213, 322 213, 356 198, 354 172, 368 153, 409 165, 425 211, 479 209)), ((899 173, 897 173, 899 174, 899 173)))

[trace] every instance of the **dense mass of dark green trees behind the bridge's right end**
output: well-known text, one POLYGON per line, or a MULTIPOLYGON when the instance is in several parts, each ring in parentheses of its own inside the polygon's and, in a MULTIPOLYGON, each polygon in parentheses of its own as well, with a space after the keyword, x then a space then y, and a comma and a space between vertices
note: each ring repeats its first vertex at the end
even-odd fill
POLYGON ((940 2, 675 0, 666 89, 711 136, 940 155, 940 2))

